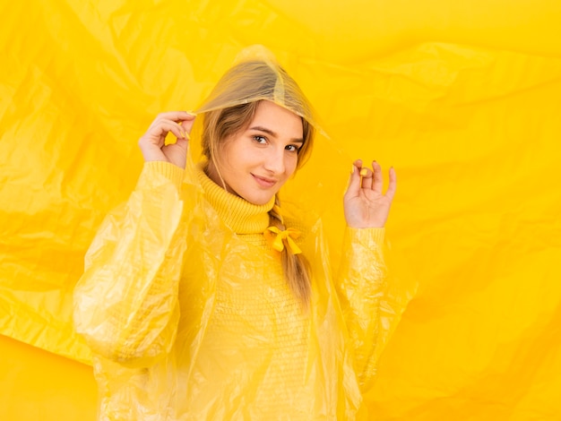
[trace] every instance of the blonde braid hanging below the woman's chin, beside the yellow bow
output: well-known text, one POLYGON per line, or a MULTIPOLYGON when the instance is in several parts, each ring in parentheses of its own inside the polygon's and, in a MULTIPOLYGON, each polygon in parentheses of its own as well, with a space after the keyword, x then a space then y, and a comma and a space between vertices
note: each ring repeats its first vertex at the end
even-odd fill
MULTIPOLYGON (((284 221, 280 215, 279 198, 275 198, 275 206, 269 211, 271 224, 281 231, 286 229, 284 221)), ((307 308, 312 296, 312 286, 310 281, 309 264, 302 253, 289 253, 288 247, 280 252, 282 271, 284 278, 289 284, 289 288, 298 298, 304 308, 307 308)))

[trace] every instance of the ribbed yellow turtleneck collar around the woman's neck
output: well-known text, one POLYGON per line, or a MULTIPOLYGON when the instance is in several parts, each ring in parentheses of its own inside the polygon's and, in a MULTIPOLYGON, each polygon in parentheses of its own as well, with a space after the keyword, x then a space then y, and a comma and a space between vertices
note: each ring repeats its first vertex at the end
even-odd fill
POLYGON ((235 194, 228 193, 220 185, 214 183, 204 174, 202 165, 197 166, 196 173, 207 200, 220 219, 236 234, 261 234, 270 226, 268 212, 274 205, 274 196, 268 203, 256 205, 235 194))

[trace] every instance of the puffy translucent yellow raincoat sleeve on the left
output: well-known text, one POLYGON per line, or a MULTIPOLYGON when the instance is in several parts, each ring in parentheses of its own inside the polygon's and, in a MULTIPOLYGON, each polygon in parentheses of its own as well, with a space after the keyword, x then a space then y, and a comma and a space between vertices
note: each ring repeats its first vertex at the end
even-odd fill
POLYGON ((145 163, 128 202, 108 215, 86 254, 74 324, 101 357, 148 366, 174 343, 183 174, 167 162, 145 163))

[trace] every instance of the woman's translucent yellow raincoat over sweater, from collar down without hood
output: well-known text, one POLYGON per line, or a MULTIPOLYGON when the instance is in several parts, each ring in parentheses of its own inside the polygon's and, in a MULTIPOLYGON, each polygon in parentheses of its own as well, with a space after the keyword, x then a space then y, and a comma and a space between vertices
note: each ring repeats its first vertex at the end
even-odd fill
POLYGON ((388 294, 384 228, 347 229, 333 284, 321 223, 284 216, 311 266, 303 311, 263 236, 274 198, 248 203, 194 168, 179 193, 177 172, 145 165, 75 289, 100 418, 367 419, 360 391, 408 301, 388 294))

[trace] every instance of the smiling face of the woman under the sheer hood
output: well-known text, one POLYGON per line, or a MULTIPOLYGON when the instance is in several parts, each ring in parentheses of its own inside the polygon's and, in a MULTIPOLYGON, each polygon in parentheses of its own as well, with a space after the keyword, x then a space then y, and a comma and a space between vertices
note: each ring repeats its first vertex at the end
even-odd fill
MULTIPOLYGON (((265 204, 279 192, 298 164, 303 144, 302 118, 270 101, 261 101, 252 121, 227 139, 217 165, 230 193, 265 204)), ((212 164, 209 176, 222 185, 212 164)))

